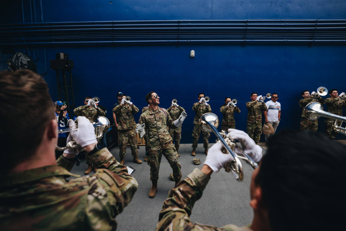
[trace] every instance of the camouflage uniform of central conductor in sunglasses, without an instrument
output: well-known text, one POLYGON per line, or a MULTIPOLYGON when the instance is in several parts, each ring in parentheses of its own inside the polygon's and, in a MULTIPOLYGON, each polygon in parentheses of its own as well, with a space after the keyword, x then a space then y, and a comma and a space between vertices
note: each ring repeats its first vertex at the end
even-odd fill
POLYGON ((157 183, 162 154, 173 169, 174 179, 181 180, 181 166, 178 162, 178 153, 172 143, 172 137, 167 131, 167 126, 175 127, 174 121, 166 109, 158 107, 153 111, 148 108, 139 118, 139 124, 145 124, 149 156, 147 163, 150 166, 150 179, 157 183))

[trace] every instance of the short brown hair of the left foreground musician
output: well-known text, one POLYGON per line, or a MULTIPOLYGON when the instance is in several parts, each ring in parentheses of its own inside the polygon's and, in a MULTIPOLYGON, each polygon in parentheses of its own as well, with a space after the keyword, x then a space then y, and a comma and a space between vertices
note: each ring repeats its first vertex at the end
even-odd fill
POLYGON ((32 156, 55 115, 47 83, 27 69, 0 72, 0 102, 0 172, 6 173, 32 156))

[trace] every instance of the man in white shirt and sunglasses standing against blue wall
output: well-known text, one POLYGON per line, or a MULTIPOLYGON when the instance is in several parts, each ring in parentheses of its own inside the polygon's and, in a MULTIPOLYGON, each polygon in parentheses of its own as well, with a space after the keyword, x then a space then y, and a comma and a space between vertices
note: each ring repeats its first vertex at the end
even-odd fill
POLYGON ((268 139, 270 136, 275 134, 277 125, 280 123, 280 117, 281 117, 281 104, 277 102, 277 94, 272 94, 272 99, 267 101, 265 105, 267 105, 268 110, 266 112, 263 112, 265 117, 267 117, 266 123, 270 123, 274 128, 274 133, 272 134, 266 134, 265 135, 265 141, 268 142, 268 139))

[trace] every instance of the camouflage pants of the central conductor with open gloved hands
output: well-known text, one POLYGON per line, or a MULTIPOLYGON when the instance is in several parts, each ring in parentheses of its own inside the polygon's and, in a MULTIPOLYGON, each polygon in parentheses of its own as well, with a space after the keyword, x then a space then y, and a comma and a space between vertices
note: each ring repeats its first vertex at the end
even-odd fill
POLYGON ((162 154, 173 169, 174 179, 176 181, 181 180, 181 166, 178 162, 178 153, 175 150, 172 141, 165 144, 149 144, 147 163, 150 166, 150 180, 152 182, 157 182, 158 180, 158 171, 160 170, 162 154))

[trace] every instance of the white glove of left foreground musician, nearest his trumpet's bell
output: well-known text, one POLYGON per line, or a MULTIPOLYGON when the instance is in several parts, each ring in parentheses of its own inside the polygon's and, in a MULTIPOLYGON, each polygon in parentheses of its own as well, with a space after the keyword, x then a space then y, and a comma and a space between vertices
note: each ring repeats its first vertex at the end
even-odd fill
MULTIPOLYGON (((70 135, 73 137, 74 141, 81 145, 82 148, 84 148, 86 145, 97 143, 95 128, 92 123, 90 123, 89 119, 84 116, 78 116, 76 121, 78 123, 78 130, 70 132, 70 135)), ((70 127, 75 126, 72 119, 69 119, 69 123, 70 127)))

